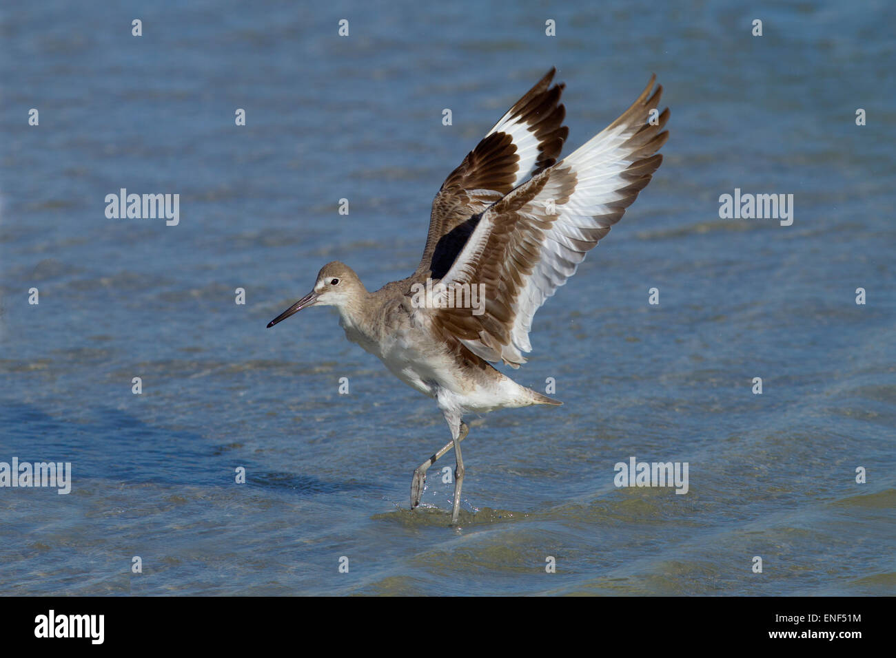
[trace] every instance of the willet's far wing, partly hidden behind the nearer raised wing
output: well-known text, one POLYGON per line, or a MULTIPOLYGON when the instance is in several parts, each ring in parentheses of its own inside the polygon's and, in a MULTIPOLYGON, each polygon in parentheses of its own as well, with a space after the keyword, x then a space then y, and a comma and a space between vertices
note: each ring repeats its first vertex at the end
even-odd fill
POLYGON ((415 276, 444 277, 476 227, 473 217, 556 162, 569 129, 562 125, 564 85, 550 86, 554 73, 552 68, 520 98, 445 179, 415 276))

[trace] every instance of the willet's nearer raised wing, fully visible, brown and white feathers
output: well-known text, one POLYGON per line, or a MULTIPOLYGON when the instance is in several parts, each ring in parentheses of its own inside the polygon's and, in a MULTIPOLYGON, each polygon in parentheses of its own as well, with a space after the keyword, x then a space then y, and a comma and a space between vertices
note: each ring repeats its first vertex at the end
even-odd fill
POLYGON ((650 94, 655 80, 582 148, 483 213, 442 284, 456 292, 482 284, 485 310, 433 310, 446 338, 487 361, 514 368, 526 362, 535 312, 573 276, 662 162, 656 153, 668 139, 661 131, 669 111, 651 114, 662 93, 658 86, 650 94))

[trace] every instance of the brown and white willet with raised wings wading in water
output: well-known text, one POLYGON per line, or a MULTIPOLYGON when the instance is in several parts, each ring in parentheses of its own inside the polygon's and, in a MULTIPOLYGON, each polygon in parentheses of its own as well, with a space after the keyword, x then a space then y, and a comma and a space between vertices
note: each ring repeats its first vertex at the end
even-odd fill
POLYGON ((367 292, 339 261, 314 289, 271 320, 307 306, 335 306, 346 338, 378 356, 401 381, 435 399, 452 440, 414 471, 411 508, 426 469, 454 449, 452 523, 463 484, 465 413, 559 405, 491 363, 512 368, 530 352, 532 317, 622 218, 662 162, 668 108, 657 111, 656 76, 623 115, 557 162, 569 129, 555 69, 517 101, 435 195, 417 270, 367 292))

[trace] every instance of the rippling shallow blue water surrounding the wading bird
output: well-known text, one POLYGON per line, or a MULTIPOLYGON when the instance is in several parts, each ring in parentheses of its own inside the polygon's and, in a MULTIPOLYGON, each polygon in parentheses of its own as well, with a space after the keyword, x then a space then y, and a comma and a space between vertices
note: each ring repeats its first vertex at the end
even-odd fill
POLYGON ((0 10, 0 461, 73 468, 0 488, 0 593, 896 593, 892 4, 491 7, 0 10), (438 468, 407 509, 433 402, 332 309, 265 324, 326 261, 407 276, 444 176, 552 65, 564 152, 654 72, 671 139, 513 372, 564 406, 467 419, 455 528, 438 468), (122 187, 180 223, 106 218, 122 187), (792 193, 793 225, 719 218, 735 188, 792 193), (689 491, 616 488, 631 456, 689 491))

